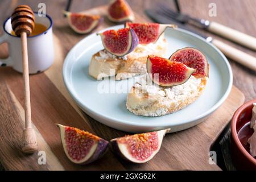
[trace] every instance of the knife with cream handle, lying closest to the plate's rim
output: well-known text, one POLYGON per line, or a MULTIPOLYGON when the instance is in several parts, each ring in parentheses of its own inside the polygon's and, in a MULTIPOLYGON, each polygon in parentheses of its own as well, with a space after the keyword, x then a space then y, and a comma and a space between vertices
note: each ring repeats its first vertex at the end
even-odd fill
POLYGON ((166 16, 156 13, 154 10, 146 10, 145 13, 152 20, 154 20, 154 22, 162 23, 162 24, 174 23, 174 24, 177 24, 177 26, 181 29, 190 31, 196 35, 201 36, 201 38, 204 38, 207 42, 212 43, 214 46, 216 46, 218 49, 220 49, 224 53, 224 55, 226 55, 230 59, 232 59, 232 60, 236 61, 237 63, 240 63, 240 64, 244 65, 245 67, 250 68, 256 72, 256 58, 255 57, 253 57, 245 52, 242 52, 237 48, 229 46, 228 44, 225 44, 225 43, 221 42, 220 40, 213 39, 210 36, 204 36, 202 34, 199 34, 198 32, 195 32, 195 31, 191 30, 190 28, 185 27, 181 23, 172 21, 172 20, 166 18, 166 16))

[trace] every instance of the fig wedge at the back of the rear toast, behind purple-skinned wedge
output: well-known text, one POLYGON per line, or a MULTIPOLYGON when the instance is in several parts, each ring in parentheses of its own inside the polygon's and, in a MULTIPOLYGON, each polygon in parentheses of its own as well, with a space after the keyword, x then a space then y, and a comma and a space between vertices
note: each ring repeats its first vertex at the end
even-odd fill
POLYGON ((177 26, 175 24, 126 22, 125 27, 133 28, 139 38, 140 44, 149 44, 155 43, 167 27, 176 28, 177 26))

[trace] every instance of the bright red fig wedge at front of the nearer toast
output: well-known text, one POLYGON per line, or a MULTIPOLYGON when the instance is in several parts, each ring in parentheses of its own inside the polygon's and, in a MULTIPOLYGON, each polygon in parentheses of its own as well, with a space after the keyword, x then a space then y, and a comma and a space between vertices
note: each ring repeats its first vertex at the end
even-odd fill
POLYGON ((151 80, 160 86, 184 84, 195 71, 177 61, 170 61, 154 55, 147 57, 147 73, 151 80))

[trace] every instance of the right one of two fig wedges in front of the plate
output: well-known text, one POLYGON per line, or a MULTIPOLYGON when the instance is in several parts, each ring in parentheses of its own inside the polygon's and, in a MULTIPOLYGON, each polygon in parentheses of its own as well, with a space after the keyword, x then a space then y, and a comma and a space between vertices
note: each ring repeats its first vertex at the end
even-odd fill
POLYGON ((122 158, 134 163, 146 163, 160 150, 163 137, 171 129, 127 135, 112 139, 113 150, 122 158))

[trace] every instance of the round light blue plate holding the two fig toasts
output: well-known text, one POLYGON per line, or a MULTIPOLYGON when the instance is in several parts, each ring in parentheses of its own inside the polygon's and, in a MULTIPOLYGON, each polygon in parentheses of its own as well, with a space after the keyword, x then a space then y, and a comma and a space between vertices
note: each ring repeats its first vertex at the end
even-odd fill
MULTIPOLYGON (((123 26, 110 27, 118 29, 123 26)), ((63 77, 69 94, 90 117, 118 130, 139 133, 171 128, 171 132, 188 129, 195 126, 202 118, 207 117, 216 110, 228 97, 232 88, 232 70, 226 57, 212 44, 206 42, 200 36, 185 30, 167 29, 165 37, 169 43, 169 57, 177 49, 195 47, 200 49, 209 61, 209 81, 207 88, 200 98, 184 109, 174 114, 162 117, 143 117, 134 115, 126 110, 127 93, 100 93, 102 83, 109 80, 97 81, 88 74, 92 55, 103 49, 100 36, 92 34, 82 39, 74 46, 65 58, 63 77)), ((118 86, 129 89, 133 85, 133 79, 122 81, 110 81, 118 86)), ((110 84, 112 92, 115 86, 110 84)), ((70 121, 72 122, 72 121, 70 121)))

